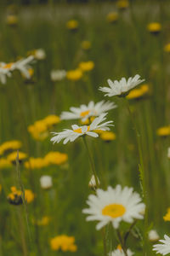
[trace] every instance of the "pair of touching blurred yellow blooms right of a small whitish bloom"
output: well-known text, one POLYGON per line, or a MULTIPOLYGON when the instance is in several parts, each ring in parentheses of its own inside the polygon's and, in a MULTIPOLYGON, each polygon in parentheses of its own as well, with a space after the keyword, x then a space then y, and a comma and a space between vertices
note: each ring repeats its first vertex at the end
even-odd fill
POLYGON ((71 81, 82 79, 83 72, 94 69, 94 61, 82 61, 74 70, 67 71, 66 78, 71 81))

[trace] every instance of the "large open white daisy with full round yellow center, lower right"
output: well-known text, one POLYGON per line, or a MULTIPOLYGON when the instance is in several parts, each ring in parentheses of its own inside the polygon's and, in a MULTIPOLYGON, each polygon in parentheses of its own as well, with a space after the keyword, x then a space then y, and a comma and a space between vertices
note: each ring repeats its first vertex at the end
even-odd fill
POLYGON ((106 191, 97 189, 96 195, 88 196, 87 203, 89 208, 82 212, 90 215, 87 218, 88 221, 99 221, 96 225, 97 230, 110 222, 117 229, 122 220, 133 223, 135 218, 144 218, 141 215, 144 203, 141 202, 139 194, 133 192, 133 188, 122 189, 121 185, 116 185, 115 189, 108 187, 106 191))

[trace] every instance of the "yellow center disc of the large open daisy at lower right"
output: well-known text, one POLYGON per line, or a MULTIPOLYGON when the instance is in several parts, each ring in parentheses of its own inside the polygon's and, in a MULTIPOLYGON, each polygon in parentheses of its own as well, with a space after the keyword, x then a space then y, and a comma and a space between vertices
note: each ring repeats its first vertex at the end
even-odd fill
POLYGON ((126 208, 118 204, 111 204, 109 206, 104 207, 102 210, 103 215, 110 216, 111 218, 121 217, 125 212, 126 208))

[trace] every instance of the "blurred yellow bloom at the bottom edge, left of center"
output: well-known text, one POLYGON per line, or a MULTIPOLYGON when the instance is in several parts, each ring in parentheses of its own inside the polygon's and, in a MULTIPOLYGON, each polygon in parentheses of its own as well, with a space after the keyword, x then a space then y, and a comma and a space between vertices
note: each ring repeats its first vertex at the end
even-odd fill
POLYGON ((51 249, 54 251, 61 251, 66 252, 76 252, 77 246, 75 245, 75 237, 74 236, 55 236, 50 240, 51 249))

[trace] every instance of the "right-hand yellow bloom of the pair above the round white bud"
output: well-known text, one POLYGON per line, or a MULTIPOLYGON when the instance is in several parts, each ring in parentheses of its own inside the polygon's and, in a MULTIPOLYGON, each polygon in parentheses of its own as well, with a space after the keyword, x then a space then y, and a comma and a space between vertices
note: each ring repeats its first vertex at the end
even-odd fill
POLYGON ((62 165, 68 160, 68 154, 51 151, 45 155, 44 160, 48 165, 62 165))

